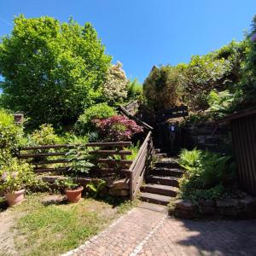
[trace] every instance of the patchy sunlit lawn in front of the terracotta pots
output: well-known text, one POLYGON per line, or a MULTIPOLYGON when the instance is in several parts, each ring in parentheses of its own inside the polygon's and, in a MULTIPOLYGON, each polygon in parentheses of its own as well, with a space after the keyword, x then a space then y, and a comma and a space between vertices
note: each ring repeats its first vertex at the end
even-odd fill
POLYGON ((14 227, 20 255, 58 255, 79 247, 135 205, 82 199, 78 204, 44 206, 38 200, 42 196, 27 196, 26 202, 11 210, 21 215, 14 227))

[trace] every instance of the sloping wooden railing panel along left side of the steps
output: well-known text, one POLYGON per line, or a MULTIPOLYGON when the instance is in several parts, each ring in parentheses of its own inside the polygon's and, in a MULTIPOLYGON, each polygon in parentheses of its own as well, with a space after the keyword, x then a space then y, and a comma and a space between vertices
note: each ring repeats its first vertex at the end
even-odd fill
POLYGON ((153 151, 152 132, 149 131, 141 146, 137 157, 130 166, 130 198, 134 200, 137 197, 139 189, 143 183, 145 172, 151 161, 153 151))

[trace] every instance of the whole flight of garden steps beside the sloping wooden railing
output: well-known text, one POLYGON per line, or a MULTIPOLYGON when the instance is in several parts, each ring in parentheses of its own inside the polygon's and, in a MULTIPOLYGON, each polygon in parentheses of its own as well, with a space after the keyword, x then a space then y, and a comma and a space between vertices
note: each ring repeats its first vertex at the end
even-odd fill
POLYGON ((158 160, 145 177, 140 199, 166 206, 172 197, 177 195, 177 180, 183 175, 183 170, 177 164, 177 158, 168 157, 166 153, 160 153, 160 149, 155 149, 154 156, 158 160))

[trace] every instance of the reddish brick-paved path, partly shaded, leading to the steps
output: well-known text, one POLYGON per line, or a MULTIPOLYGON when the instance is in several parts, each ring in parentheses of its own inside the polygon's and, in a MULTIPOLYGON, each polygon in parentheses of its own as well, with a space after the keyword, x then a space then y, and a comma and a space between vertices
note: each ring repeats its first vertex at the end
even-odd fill
POLYGON ((256 255, 256 220, 178 220, 137 207, 66 255, 256 255))

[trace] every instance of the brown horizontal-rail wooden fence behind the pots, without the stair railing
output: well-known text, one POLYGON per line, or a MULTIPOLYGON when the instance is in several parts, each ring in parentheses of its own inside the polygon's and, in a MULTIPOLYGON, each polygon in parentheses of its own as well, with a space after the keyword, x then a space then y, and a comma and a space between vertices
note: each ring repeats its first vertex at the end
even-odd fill
POLYGON ((70 164, 70 159, 67 157, 68 151, 71 148, 77 147, 90 148, 89 154, 94 156, 91 161, 95 166, 98 166, 98 164, 104 164, 105 166, 98 168, 99 171, 106 174, 119 172, 120 174, 129 176, 129 167, 132 164, 132 160, 126 160, 126 155, 131 155, 132 153, 131 150, 124 150, 127 146, 131 146, 131 142, 42 145, 20 148, 18 157, 31 162, 35 166, 34 172, 37 173, 68 172, 71 171, 71 166, 68 166, 68 163, 70 164), (118 159, 117 157, 113 157, 117 155, 119 155, 118 159), (51 157, 54 157, 54 159, 49 159, 51 157), (53 164, 63 164, 63 166, 52 167, 53 164))

